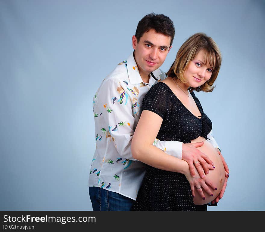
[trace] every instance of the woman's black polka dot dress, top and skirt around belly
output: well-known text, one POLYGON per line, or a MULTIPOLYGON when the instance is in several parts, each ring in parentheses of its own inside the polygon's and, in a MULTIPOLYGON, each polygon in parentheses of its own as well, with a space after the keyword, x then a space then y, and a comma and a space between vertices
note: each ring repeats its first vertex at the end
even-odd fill
MULTIPOLYGON (((190 143, 192 139, 207 134, 212 128, 210 119, 204 114, 199 100, 191 93, 201 112, 195 117, 163 82, 155 84, 145 95, 142 110, 153 111, 163 118, 157 139, 190 143)), ((136 203, 131 210, 192 211, 207 210, 207 206, 196 206, 185 175, 147 166, 145 178, 136 203)))

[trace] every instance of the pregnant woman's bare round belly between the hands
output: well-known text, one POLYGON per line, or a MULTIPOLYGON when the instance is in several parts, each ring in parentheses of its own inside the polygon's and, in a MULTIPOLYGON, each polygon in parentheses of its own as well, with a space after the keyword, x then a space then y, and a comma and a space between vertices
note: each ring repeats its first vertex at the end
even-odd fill
POLYGON ((195 188, 195 197, 193 198, 193 202, 195 205, 207 204, 214 200, 219 195, 225 182, 225 169, 221 157, 216 151, 216 148, 214 148, 210 144, 210 142, 208 142, 203 137, 198 137, 197 139, 194 139, 191 142, 194 143, 201 141, 204 141, 204 145, 198 147, 197 149, 206 154, 214 162, 215 169, 209 170, 209 174, 207 174, 207 177, 210 178, 210 180, 216 185, 217 190, 211 189, 211 187, 209 187, 214 194, 214 196, 211 197, 206 191, 204 191, 204 189, 202 189, 205 195, 205 200, 203 200, 200 194, 198 193, 197 189, 195 188))

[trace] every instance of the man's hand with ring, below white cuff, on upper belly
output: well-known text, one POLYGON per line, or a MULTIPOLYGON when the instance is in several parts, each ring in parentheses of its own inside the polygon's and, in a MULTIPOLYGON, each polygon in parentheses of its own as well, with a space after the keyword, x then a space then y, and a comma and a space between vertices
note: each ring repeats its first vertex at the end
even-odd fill
POLYGON ((189 164, 189 169, 192 177, 195 177, 194 166, 196 167, 201 178, 204 178, 204 173, 205 174, 209 173, 209 169, 210 170, 214 169, 213 161, 210 160, 210 158, 206 154, 204 154, 203 152, 197 149, 197 147, 201 147, 203 144, 204 142, 182 144, 182 160, 185 160, 189 164))

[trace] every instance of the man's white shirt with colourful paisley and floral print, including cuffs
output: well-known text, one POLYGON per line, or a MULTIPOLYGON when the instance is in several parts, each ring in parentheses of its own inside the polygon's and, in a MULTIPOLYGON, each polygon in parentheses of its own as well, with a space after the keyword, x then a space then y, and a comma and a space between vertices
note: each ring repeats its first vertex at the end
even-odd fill
MULTIPOLYGON (((157 83, 155 78, 161 81, 166 75, 157 69, 149 75, 148 84, 142 81, 132 53, 102 81, 93 97, 96 150, 89 186, 136 200, 145 164, 133 158, 131 140, 142 112, 142 100, 157 83)), ((207 137, 217 147, 211 133, 207 137)), ((155 139, 154 145, 167 154, 182 157, 182 142, 155 139)))

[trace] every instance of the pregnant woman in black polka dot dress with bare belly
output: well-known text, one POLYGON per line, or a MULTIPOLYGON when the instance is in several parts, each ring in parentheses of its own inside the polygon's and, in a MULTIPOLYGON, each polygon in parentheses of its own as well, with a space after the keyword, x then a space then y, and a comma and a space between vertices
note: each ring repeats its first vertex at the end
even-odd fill
POLYGON ((226 181, 224 166, 207 141, 212 123, 193 92, 213 91, 220 65, 217 44, 197 33, 180 47, 168 77, 146 94, 131 149, 135 159, 150 166, 131 210, 207 210, 206 204, 220 193, 226 181), (186 161, 152 145, 155 138, 183 143, 204 141, 198 149, 214 162, 215 169, 204 178, 198 173, 192 177, 186 161))

